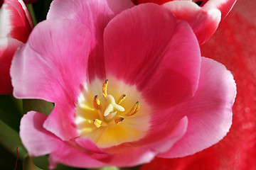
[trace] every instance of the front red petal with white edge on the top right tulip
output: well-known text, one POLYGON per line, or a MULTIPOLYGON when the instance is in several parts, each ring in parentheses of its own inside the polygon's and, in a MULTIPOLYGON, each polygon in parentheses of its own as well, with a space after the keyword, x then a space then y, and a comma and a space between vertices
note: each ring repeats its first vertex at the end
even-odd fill
POLYGON ((213 35, 220 23, 221 13, 216 8, 206 11, 191 1, 170 1, 163 6, 174 12, 177 18, 188 21, 200 44, 213 35))

